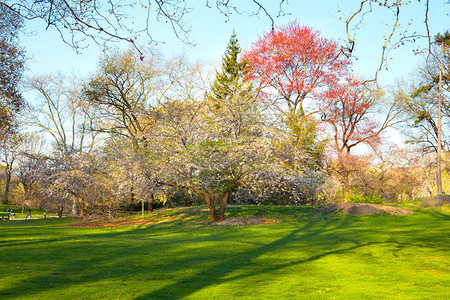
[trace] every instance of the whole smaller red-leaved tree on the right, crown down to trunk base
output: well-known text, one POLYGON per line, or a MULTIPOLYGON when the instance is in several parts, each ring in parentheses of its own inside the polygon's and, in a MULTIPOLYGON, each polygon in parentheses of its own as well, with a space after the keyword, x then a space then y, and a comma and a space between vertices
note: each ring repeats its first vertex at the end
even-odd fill
POLYGON ((332 132, 332 148, 337 156, 336 171, 341 175, 344 193, 349 188, 349 175, 361 166, 351 150, 365 144, 375 149, 382 142, 381 132, 392 125, 394 107, 384 121, 377 121, 382 91, 367 89, 359 80, 348 76, 324 93, 322 119, 332 132))

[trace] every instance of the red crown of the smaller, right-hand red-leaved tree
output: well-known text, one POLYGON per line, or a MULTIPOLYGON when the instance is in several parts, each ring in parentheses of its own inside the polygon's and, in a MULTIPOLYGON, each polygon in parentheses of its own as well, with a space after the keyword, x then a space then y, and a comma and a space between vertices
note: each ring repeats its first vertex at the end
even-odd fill
POLYGON ((323 119, 334 131, 335 149, 339 154, 360 143, 376 147, 381 142, 380 124, 370 118, 376 95, 358 80, 348 77, 324 93, 323 119))

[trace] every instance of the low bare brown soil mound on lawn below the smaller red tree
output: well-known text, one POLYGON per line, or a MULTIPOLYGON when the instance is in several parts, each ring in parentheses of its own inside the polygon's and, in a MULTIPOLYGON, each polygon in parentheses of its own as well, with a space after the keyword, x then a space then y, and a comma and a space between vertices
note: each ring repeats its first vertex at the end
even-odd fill
POLYGON ((409 215, 414 211, 406 208, 397 208, 384 206, 380 204, 368 204, 368 203, 340 203, 332 204, 325 208, 327 213, 335 213, 339 210, 345 211, 351 215, 366 216, 372 214, 388 213, 390 215, 409 215))

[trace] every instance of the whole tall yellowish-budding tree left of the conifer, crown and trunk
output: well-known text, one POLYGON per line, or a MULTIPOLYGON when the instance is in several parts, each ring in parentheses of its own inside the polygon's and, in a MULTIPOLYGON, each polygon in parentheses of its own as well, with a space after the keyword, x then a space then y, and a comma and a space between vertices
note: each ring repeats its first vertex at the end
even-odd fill
POLYGON ((114 149, 114 155, 132 157, 122 161, 134 172, 126 176, 128 182, 122 181, 121 190, 130 191, 132 200, 141 195, 142 208, 147 199, 151 203, 156 192, 149 189, 156 188, 157 168, 146 159, 153 147, 147 133, 153 131, 159 118, 156 108, 175 97, 184 88, 184 78, 190 78, 197 69, 183 57, 164 60, 159 53, 149 51, 142 62, 131 49, 113 51, 100 61, 97 74, 85 87, 86 98, 98 109, 93 129, 108 134, 110 145, 115 145, 110 149, 114 149), (131 146, 131 152, 124 143, 131 146), (146 184, 136 187, 137 182, 146 184))

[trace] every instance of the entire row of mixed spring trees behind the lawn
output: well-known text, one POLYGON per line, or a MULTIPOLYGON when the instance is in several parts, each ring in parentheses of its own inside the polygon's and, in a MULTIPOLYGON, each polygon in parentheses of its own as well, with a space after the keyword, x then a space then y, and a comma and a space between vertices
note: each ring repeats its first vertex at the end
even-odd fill
MULTIPOLYGON (((3 202, 112 218, 130 205, 144 212, 145 204, 171 200, 206 204, 220 221, 230 202, 315 205, 432 193, 426 156, 395 149, 383 134, 407 124, 424 151, 436 145, 426 101, 435 86, 403 84, 386 95, 359 79, 341 50, 292 22, 242 52, 233 34, 215 74, 183 56, 132 47, 106 52, 89 78, 30 78, 34 105, 22 108, 14 89, 2 102, 5 112, 23 112, 5 114, 3 202)), ((13 56, 20 75, 20 49, 13 56)), ((444 56, 448 97, 447 50, 444 56)))

